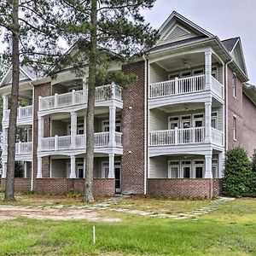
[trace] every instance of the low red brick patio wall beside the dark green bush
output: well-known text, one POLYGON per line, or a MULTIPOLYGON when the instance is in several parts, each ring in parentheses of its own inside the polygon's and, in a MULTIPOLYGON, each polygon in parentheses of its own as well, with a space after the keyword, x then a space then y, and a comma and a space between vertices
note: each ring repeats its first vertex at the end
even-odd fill
POLYGON ((219 193, 220 182, 218 179, 148 178, 148 194, 211 198, 219 193))

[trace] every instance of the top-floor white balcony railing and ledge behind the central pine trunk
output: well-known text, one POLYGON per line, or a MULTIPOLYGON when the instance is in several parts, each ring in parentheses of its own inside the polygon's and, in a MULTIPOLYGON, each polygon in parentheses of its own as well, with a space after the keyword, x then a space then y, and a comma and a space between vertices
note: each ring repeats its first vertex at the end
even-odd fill
MULTIPOLYGON (((63 112, 68 109, 78 110, 86 108, 88 91, 72 90, 63 94, 55 93, 54 96, 39 97, 39 111, 42 113, 63 112)), ((116 107, 122 108, 122 91, 116 84, 108 84, 96 87, 96 107, 109 106, 115 102, 116 107)), ((68 111, 67 111, 68 112, 68 111)))

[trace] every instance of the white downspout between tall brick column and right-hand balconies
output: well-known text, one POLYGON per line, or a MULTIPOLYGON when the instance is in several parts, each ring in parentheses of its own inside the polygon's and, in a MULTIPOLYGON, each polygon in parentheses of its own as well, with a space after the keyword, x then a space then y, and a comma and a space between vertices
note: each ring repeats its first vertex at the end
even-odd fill
POLYGON ((144 60, 144 195, 147 194, 148 171, 148 61, 144 60))

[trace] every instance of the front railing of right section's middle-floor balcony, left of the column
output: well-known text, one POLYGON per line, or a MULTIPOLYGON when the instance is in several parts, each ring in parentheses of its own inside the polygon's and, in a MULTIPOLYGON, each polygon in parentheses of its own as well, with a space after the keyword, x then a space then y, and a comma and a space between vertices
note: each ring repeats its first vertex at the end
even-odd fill
POLYGON ((150 146, 204 143, 205 127, 151 131, 149 137, 150 146))

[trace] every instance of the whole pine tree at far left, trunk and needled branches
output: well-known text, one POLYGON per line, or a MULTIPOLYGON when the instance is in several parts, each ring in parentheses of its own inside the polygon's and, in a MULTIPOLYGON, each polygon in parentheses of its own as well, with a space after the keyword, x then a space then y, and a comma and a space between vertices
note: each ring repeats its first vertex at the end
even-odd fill
POLYGON ((42 72, 61 56, 56 47, 60 28, 56 26, 55 9, 50 0, 2 0, 0 29, 8 44, 4 56, 11 60, 12 89, 9 113, 8 160, 5 201, 14 201, 15 138, 19 100, 20 65, 42 72))

